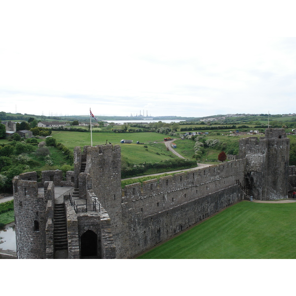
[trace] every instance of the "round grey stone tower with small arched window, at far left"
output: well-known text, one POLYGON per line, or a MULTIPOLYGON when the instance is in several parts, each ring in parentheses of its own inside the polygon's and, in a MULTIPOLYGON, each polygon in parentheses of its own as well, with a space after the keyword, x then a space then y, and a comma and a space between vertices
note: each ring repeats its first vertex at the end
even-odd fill
POLYGON ((46 258, 47 198, 38 194, 36 172, 13 179, 15 235, 18 259, 46 258))

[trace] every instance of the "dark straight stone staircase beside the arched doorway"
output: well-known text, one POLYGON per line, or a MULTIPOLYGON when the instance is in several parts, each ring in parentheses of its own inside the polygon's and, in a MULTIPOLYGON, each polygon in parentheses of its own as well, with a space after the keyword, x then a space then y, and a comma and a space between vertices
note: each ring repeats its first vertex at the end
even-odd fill
POLYGON ((54 205, 53 216, 54 250, 68 250, 67 219, 64 203, 54 205))

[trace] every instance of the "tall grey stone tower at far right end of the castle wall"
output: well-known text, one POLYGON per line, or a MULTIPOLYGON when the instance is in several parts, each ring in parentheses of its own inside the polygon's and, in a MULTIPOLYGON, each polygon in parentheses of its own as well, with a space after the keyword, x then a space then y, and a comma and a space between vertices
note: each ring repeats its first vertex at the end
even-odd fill
POLYGON ((269 128, 265 137, 240 140, 246 158, 245 185, 259 200, 288 197, 290 139, 282 128, 269 128))

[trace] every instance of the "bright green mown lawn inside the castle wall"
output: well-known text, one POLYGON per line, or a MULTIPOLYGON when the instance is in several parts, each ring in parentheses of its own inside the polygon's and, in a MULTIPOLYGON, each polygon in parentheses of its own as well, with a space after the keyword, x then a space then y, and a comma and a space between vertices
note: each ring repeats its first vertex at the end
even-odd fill
POLYGON ((139 259, 295 259, 296 203, 242 201, 139 259))

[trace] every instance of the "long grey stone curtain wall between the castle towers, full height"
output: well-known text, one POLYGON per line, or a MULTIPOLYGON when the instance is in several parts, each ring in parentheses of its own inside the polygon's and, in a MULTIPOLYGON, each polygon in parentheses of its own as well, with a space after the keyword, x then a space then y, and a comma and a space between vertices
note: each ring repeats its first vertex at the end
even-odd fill
POLYGON ((119 258, 131 258, 222 208, 243 199, 244 160, 126 185, 125 239, 119 258))

